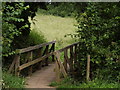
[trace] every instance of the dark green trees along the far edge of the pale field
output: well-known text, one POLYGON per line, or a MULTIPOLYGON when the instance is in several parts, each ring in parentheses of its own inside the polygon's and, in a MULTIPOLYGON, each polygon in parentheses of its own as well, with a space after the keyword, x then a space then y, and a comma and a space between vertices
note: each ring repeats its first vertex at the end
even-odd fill
POLYGON ((46 3, 46 9, 41 9, 40 12, 47 15, 54 15, 60 17, 74 17, 76 10, 74 10, 75 3, 72 2, 52 2, 46 3))

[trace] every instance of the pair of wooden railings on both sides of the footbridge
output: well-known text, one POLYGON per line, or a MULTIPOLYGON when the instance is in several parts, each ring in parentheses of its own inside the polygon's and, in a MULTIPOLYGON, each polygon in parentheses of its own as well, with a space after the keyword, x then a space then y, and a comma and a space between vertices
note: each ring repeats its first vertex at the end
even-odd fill
MULTIPOLYGON (((77 64, 80 43, 71 44, 60 50, 55 50, 55 43, 56 41, 52 41, 28 48, 17 49, 8 72, 14 73, 16 76, 20 76, 25 72, 28 76, 31 76, 36 73, 36 68, 40 71, 42 68, 49 67, 48 65, 52 67, 54 65, 56 81, 60 81, 62 77, 72 74, 75 69, 75 64, 77 64)), ((45 72, 45 70, 43 71, 45 72)), ((52 71, 50 71, 50 73, 51 72, 52 71)), ((44 78, 47 79, 47 77, 49 76, 44 78)))

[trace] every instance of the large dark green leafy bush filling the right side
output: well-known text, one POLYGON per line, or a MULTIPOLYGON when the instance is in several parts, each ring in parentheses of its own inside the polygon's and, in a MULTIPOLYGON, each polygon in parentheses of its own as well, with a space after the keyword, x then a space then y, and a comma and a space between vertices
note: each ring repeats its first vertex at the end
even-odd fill
POLYGON ((119 73, 120 3, 86 3, 82 11, 76 17, 81 66, 86 62, 86 55, 90 54, 92 71, 108 67, 109 71, 119 73))

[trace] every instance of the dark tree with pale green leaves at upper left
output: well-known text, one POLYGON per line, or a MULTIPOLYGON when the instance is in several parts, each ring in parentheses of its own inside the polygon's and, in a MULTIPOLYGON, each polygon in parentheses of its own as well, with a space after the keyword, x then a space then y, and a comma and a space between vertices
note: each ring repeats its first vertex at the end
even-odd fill
POLYGON ((28 17, 33 19, 38 7, 45 7, 45 4, 32 2, 3 2, 2 6, 2 55, 4 59, 5 57, 15 54, 16 48, 26 47, 23 45, 23 42, 30 33, 28 17))

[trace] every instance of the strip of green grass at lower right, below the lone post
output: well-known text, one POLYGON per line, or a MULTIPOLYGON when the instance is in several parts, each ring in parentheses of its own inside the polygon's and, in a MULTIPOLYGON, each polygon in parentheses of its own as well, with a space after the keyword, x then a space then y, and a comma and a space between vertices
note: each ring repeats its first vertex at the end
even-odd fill
POLYGON ((88 83, 79 83, 72 78, 66 78, 62 82, 52 82, 50 86, 59 88, 120 88, 119 82, 109 82, 106 80, 95 79, 88 83))

